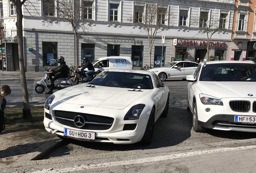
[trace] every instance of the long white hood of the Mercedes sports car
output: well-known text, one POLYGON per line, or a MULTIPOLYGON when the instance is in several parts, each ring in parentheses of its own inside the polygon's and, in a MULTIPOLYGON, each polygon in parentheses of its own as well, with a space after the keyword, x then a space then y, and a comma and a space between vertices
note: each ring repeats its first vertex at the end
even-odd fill
MULTIPOLYGON (((87 86, 89 86, 87 84, 87 86)), ((129 91, 134 89, 117 88, 117 87, 102 87, 95 88, 76 87, 64 95, 60 96, 58 103, 75 104, 81 106, 92 106, 109 109, 124 109, 136 99, 140 99, 143 95, 151 92, 151 90, 129 91)))

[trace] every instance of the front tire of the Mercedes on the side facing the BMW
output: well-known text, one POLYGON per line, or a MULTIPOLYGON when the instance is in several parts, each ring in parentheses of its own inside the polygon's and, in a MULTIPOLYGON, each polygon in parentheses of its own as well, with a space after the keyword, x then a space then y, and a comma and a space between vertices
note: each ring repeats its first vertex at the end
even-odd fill
POLYGON ((149 120, 147 123, 145 133, 140 141, 143 145, 149 145, 152 142, 154 127, 155 127, 155 109, 153 108, 149 115, 149 120))

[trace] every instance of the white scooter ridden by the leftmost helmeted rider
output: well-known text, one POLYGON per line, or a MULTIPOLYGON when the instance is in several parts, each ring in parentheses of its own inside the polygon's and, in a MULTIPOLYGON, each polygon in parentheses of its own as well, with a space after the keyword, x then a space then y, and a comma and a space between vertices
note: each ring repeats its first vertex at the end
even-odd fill
MULTIPOLYGON (((49 79, 49 74, 47 73, 47 71, 45 71, 46 74, 44 75, 44 77, 35 83, 35 92, 37 92, 38 94, 42 94, 45 90, 45 88, 47 87, 48 89, 50 89, 50 84, 48 83, 48 79, 49 79)), ((60 89, 64 89, 67 87, 71 87, 74 86, 74 83, 72 82, 72 80, 67 77, 67 78, 58 78, 57 79, 58 83, 54 84, 54 89, 56 90, 60 90, 60 89)))

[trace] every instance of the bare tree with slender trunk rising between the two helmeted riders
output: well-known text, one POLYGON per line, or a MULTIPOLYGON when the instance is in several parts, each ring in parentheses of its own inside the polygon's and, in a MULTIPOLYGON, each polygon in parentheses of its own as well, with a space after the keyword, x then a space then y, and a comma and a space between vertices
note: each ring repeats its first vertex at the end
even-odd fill
MULTIPOLYGON (((80 0, 43 0, 43 2, 50 3, 52 7, 56 8, 57 15, 55 15, 55 17, 51 16, 53 20, 68 21, 71 24, 74 32, 75 65, 77 66, 77 29, 78 27, 81 27, 80 22, 83 17, 81 12, 84 12, 84 10, 91 10, 93 3, 80 0)), ((89 12, 89 14, 91 13, 89 12)))

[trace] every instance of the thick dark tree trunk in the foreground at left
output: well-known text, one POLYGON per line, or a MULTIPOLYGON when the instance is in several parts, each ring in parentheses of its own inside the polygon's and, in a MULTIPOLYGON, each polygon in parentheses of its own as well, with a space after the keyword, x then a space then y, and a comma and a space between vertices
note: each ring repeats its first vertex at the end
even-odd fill
POLYGON ((26 2, 26 0, 10 0, 14 5, 17 11, 17 40, 18 40, 18 55, 19 55, 19 68, 20 68, 20 76, 21 76, 21 88, 23 95, 23 118, 31 118, 31 110, 29 107, 29 92, 27 89, 26 82, 26 74, 25 74, 25 64, 24 64, 24 47, 23 47, 23 14, 22 14, 22 6, 26 2))

